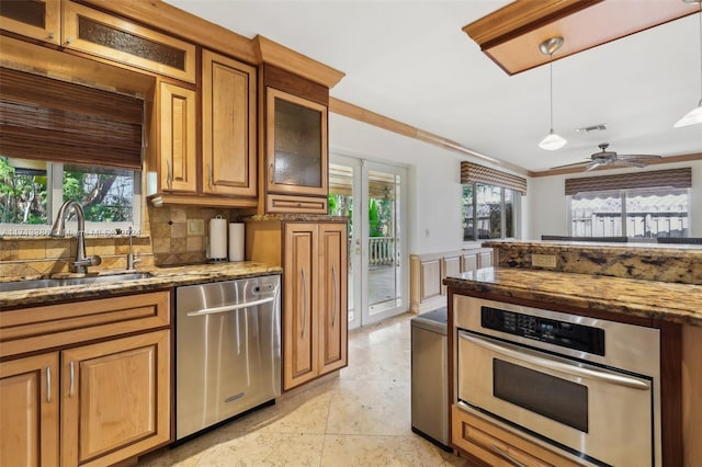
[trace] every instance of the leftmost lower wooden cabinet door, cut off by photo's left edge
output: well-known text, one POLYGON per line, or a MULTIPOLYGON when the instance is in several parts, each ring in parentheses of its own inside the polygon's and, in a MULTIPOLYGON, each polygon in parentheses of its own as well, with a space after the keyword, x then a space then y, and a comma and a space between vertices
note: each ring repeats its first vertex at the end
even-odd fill
POLYGON ((0 363, 0 466, 58 466, 58 353, 0 363))

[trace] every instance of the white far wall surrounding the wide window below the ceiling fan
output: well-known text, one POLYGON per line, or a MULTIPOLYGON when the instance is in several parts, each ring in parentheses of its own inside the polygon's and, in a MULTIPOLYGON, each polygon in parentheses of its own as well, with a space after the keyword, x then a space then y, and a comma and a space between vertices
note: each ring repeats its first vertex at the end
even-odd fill
MULTIPOLYGON (((649 170, 692 168, 692 189, 690 190, 690 237, 702 237, 702 161, 678 162, 649 166, 645 169, 608 170, 602 174, 631 173, 649 170)), ((542 235, 568 234, 565 180, 593 176, 597 173, 569 173, 567 175, 539 176, 530 179, 529 207, 530 226, 524 238, 539 240, 542 235)))

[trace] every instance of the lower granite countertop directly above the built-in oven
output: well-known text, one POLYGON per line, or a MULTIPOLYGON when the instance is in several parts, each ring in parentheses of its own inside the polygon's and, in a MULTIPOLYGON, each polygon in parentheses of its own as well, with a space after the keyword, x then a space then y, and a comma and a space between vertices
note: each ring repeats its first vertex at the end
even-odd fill
POLYGON ((486 267, 449 276, 444 284, 466 292, 533 299, 702 326, 702 285, 516 267, 486 267))

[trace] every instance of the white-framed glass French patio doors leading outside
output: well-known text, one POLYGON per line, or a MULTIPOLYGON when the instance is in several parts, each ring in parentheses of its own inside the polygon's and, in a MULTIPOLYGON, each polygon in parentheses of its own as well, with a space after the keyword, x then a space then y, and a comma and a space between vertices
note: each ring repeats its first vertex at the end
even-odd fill
POLYGON ((349 328, 407 310, 401 234, 406 170, 331 155, 329 212, 348 216, 349 328))

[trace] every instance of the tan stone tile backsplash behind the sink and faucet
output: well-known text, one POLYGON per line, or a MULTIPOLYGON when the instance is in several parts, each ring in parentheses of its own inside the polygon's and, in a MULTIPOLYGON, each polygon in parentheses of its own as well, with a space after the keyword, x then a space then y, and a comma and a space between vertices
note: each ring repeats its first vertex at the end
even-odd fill
MULTIPOLYGON (((133 251, 147 265, 202 263, 206 261, 210 219, 222 216, 230 220, 236 209, 185 206, 148 207, 144 228, 132 238, 133 251)), ((24 277, 69 272, 76 258, 75 238, 0 237, 0 277, 24 277)), ((86 237, 86 253, 98 254, 102 263, 90 271, 124 270, 129 251, 126 235, 86 237)))

